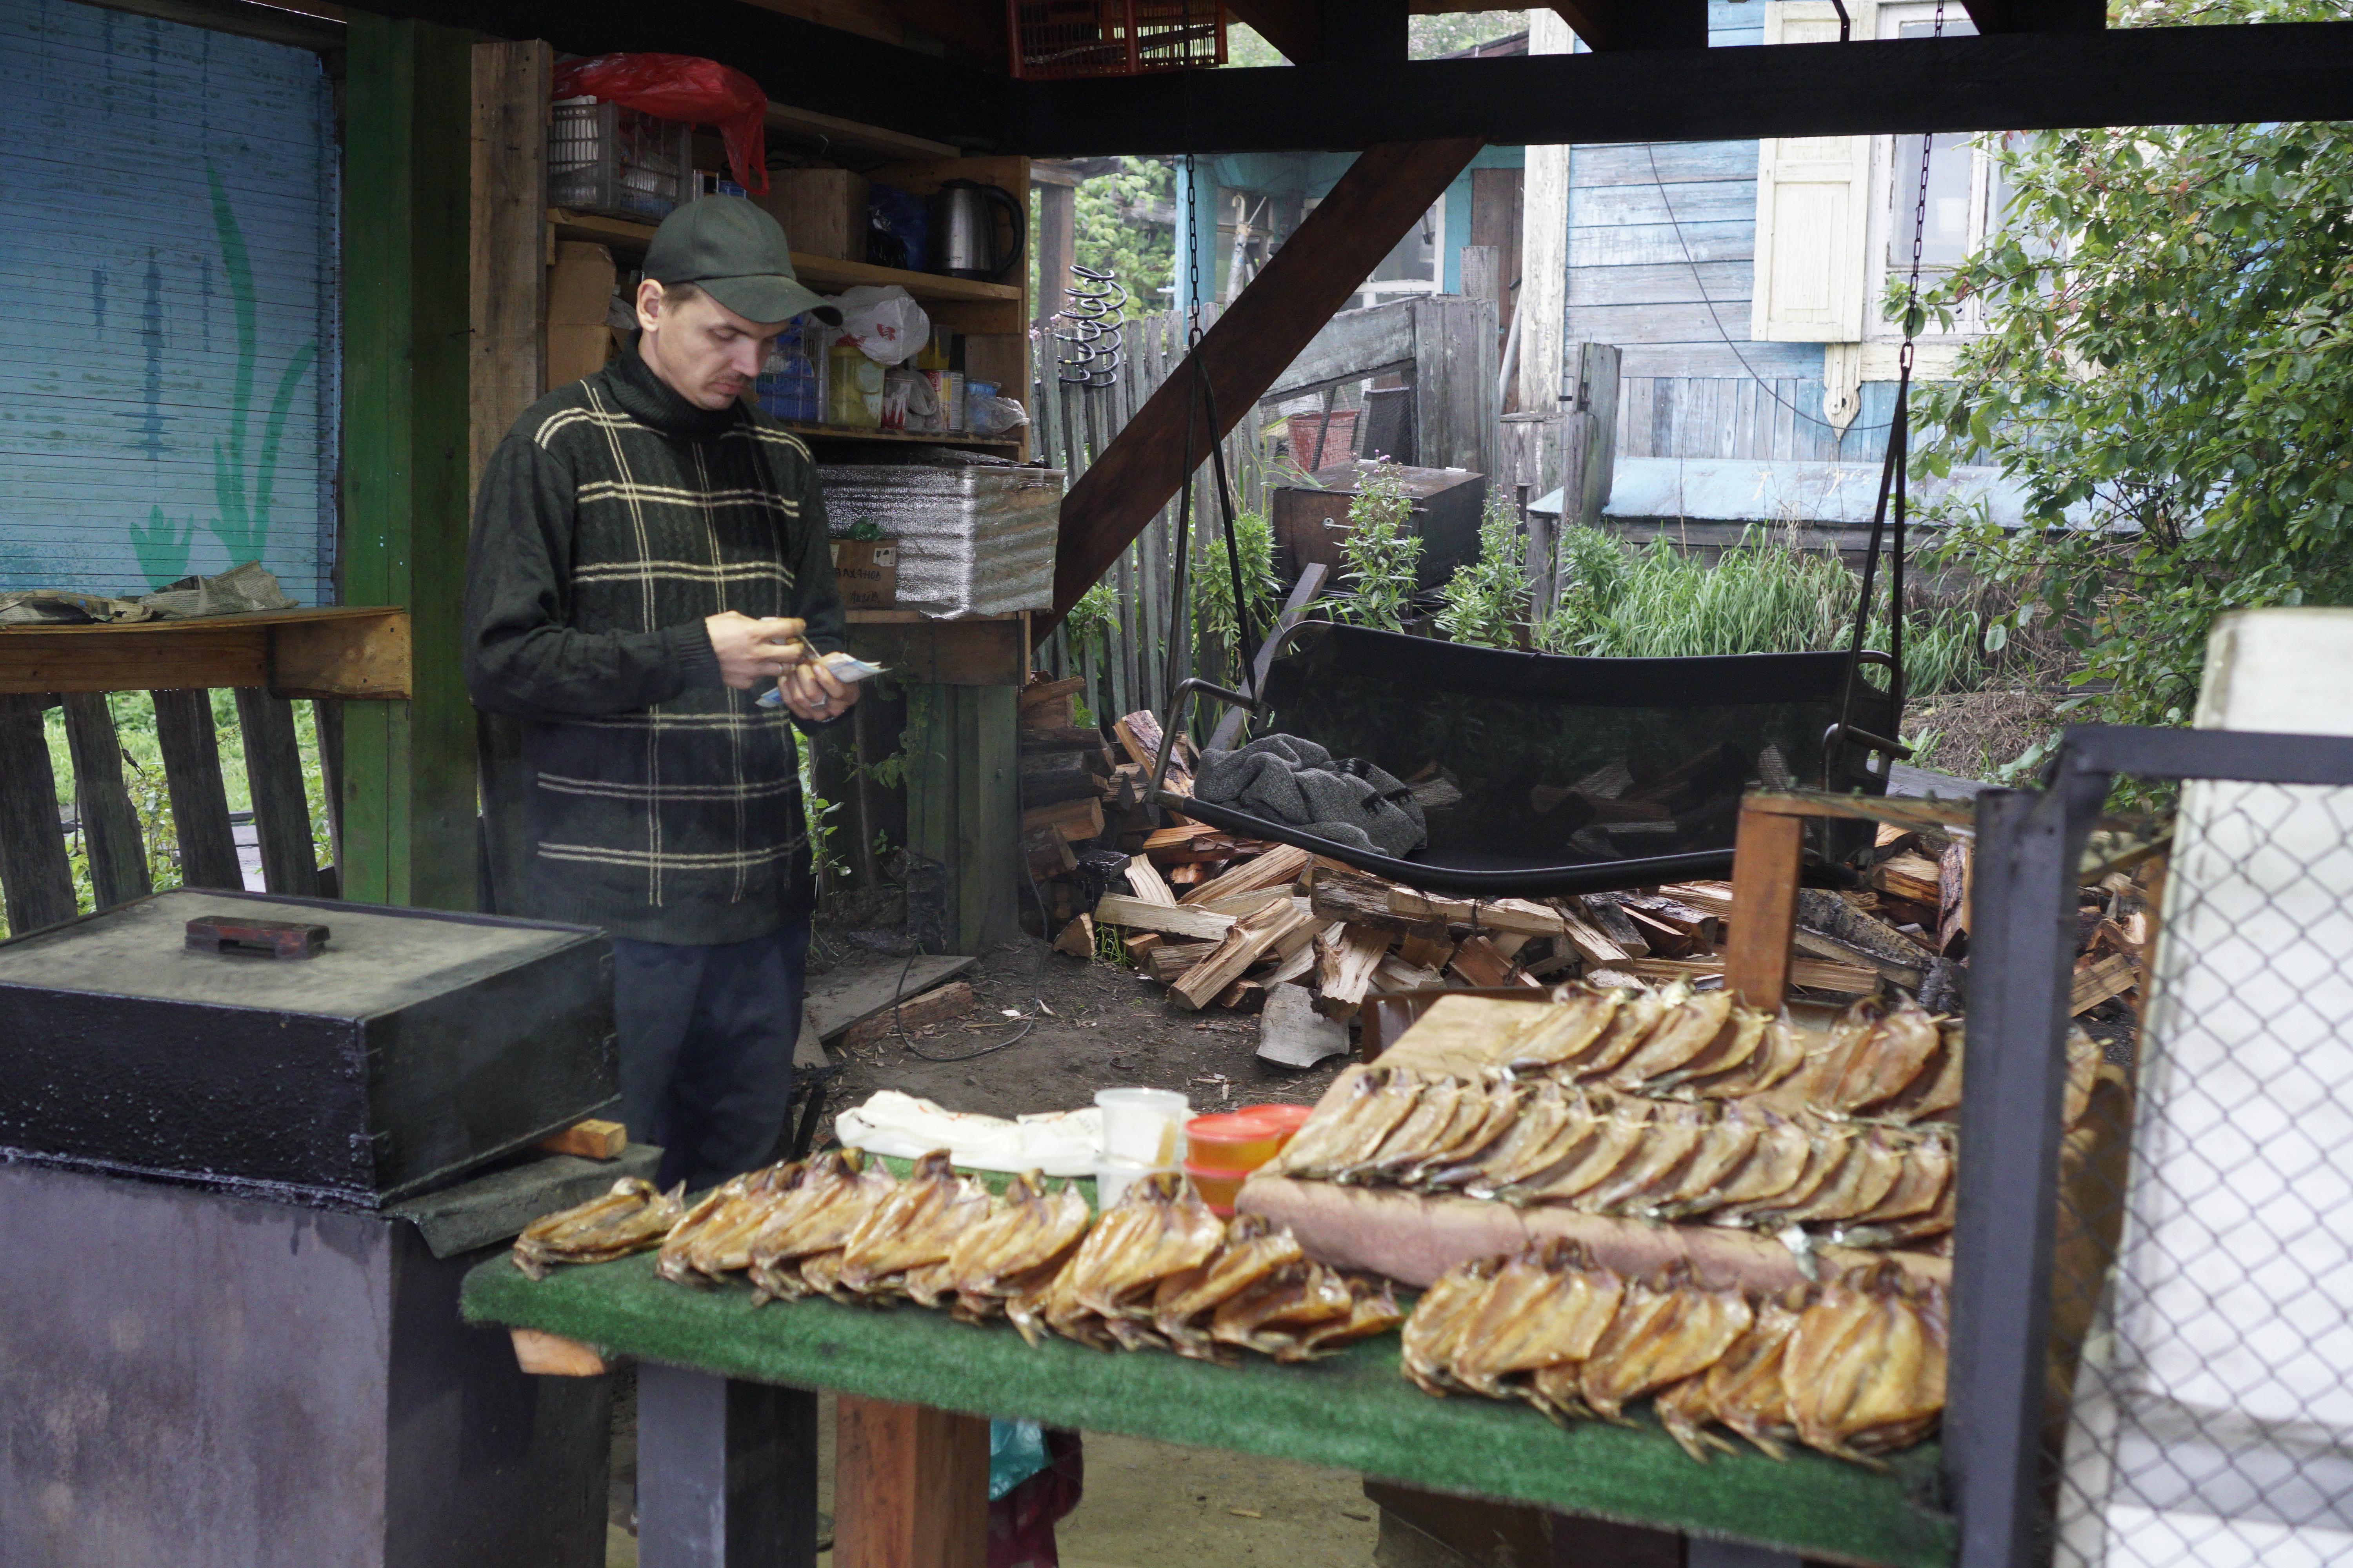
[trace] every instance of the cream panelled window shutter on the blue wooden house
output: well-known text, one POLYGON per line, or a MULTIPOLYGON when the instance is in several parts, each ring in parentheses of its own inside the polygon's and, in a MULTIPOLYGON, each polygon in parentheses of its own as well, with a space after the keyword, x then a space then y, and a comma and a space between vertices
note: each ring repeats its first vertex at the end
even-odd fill
MULTIPOLYGON (((1847 0, 1849 38, 1873 35, 1871 0, 1847 0)), ((1828 0, 1774 0, 1767 45, 1838 42, 1828 0)), ((1765 343, 1854 343, 1864 336, 1871 136, 1758 143, 1758 240, 1748 336, 1765 343)))

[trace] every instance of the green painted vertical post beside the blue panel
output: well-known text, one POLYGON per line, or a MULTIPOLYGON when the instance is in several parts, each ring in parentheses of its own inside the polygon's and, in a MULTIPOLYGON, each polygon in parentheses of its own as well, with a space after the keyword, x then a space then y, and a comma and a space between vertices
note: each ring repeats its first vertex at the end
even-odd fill
POLYGON ((473 33, 355 9, 344 129, 346 604, 400 604, 407 703, 344 705, 344 898, 471 910, 466 289, 473 33))

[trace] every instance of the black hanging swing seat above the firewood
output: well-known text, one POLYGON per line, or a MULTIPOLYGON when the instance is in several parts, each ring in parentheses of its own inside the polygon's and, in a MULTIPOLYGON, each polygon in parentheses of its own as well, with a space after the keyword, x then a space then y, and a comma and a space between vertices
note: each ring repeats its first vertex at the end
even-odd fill
MULTIPOLYGON (((1880 679, 1892 672, 1885 654, 1861 661, 1880 679)), ((1308 621, 1268 665, 1252 731, 1315 741, 1414 785, 1428 844, 1398 860, 1231 806, 1153 799, 1433 891, 1607 893, 1727 877, 1746 788, 1887 792, 1868 757, 1901 752, 1887 741, 1894 701, 1859 677, 1842 715, 1847 668, 1849 654, 1565 658, 1308 621)), ((1169 733, 1188 691, 1235 698, 1184 682, 1169 733)))

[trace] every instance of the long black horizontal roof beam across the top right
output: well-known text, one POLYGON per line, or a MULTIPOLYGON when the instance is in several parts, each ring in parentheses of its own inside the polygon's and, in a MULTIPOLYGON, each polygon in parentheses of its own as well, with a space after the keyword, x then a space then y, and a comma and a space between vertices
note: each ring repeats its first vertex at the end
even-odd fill
POLYGON ((1172 71, 1016 110, 1052 158, 2353 120, 2353 21, 1172 71))

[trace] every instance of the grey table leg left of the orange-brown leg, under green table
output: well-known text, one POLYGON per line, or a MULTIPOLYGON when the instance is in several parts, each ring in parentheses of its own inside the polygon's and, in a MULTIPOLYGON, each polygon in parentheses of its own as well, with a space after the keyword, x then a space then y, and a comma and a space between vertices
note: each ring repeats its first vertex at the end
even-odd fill
POLYGON ((638 1563, 816 1568, 816 1394, 640 1363, 638 1563))

